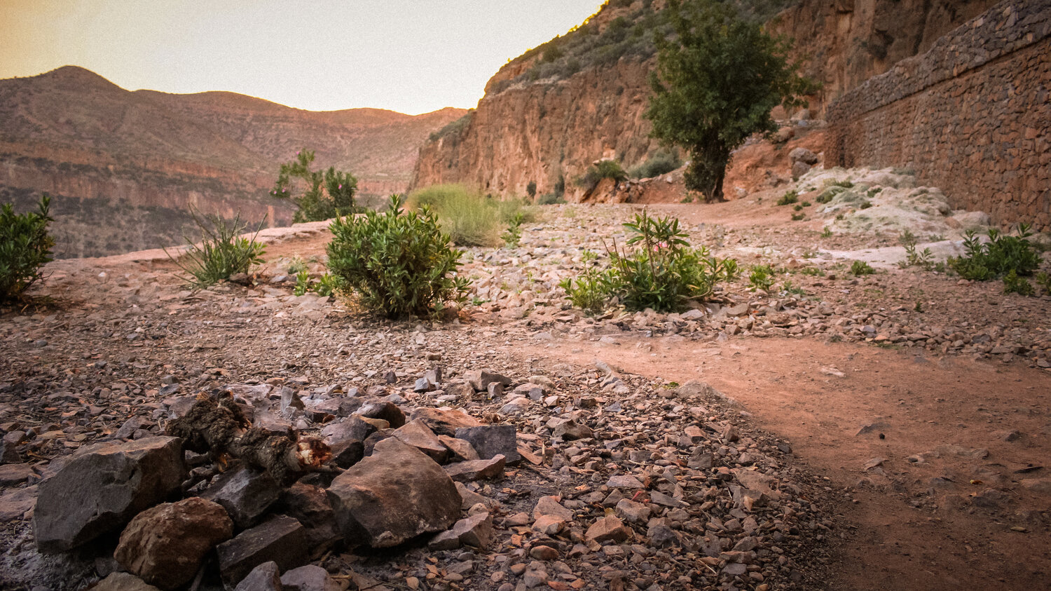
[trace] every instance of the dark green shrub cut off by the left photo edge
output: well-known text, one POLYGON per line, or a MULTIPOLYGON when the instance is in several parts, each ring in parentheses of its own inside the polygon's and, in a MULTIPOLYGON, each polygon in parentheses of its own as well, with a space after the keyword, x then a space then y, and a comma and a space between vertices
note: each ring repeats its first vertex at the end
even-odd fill
POLYGON ((7 203, 0 209, 0 300, 20 300, 51 261, 55 240, 47 233, 51 198, 40 198, 39 209, 15 215, 7 203))

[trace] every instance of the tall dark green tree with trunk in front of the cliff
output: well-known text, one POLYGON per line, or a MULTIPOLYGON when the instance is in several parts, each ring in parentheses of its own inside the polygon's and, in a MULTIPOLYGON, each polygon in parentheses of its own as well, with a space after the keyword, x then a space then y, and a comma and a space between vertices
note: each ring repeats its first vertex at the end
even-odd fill
POLYGON ((653 135, 684 147, 686 188, 723 199, 730 152, 751 134, 777 130, 770 109, 805 104, 815 85, 788 62, 790 42, 738 17, 730 3, 669 0, 674 36, 658 37, 653 135))

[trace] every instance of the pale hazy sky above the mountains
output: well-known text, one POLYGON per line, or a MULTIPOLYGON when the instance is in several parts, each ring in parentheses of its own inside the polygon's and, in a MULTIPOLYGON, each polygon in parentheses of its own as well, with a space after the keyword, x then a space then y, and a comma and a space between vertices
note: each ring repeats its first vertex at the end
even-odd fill
POLYGON ((311 110, 470 108, 601 0, 0 0, 0 78, 79 65, 165 93, 311 110))

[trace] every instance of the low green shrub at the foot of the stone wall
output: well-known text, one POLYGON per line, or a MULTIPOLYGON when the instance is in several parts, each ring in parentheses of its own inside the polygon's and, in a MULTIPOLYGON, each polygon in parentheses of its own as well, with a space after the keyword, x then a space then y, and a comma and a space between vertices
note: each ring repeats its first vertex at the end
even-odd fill
POLYGON ((1039 267, 1040 257, 1029 242, 1032 236, 1028 224, 1018 224, 1018 236, 1001 233, 990 228, 989 242, 983 244, 974 230, 968 230, 964 239, 964 257, 950 257, 947 261, 960 277, 973 281, 989 281, 1011 271, 1015 276, 1029 277, 1039 267))

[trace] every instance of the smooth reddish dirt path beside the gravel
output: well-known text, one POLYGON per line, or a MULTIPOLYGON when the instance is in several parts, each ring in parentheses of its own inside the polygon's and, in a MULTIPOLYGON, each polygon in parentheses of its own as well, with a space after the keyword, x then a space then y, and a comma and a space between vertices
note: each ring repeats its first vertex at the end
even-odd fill
POLYGON ((1046 584, 1051 545, 1033 532, 1046 496, 1018 482, 1047 468, 1017 471, 1051 462, 1048 372, 803 339, 617 341, 552 342, 522 354, 704 380, 787 437, 843 494, 849 532, 832 589, 1046 584), (994 484, 1014 494, 983 493, 994 484))

